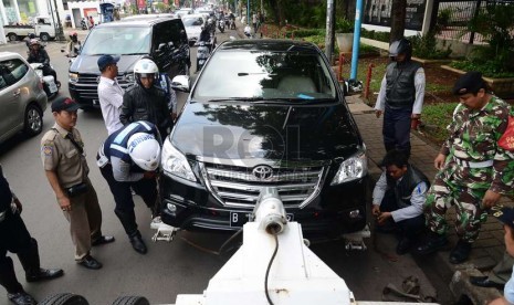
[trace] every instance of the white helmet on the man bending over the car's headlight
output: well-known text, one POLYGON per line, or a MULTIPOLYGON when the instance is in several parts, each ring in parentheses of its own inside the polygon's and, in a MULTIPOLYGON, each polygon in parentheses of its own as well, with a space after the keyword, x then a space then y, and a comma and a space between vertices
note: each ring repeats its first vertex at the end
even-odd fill
POLYGON ((160 162, 160 145, 151 134, 136 133, 128 138, 128 155, 144 170, 156 170, 160 162))

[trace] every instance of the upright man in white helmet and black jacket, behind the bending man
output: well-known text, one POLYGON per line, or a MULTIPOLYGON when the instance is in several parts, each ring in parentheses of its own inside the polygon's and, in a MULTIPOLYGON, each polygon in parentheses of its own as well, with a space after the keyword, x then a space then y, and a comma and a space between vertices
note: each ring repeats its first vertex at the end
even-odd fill
POLYGON ((157 65, 148 60, 139 60, 134 66, 136 84, 123 95, 119 120, 128 125, 136 120, 148 120, 157 126, 162 138, 172 127, 171 111, 164 90, 156 86, 159 76, 157 65))

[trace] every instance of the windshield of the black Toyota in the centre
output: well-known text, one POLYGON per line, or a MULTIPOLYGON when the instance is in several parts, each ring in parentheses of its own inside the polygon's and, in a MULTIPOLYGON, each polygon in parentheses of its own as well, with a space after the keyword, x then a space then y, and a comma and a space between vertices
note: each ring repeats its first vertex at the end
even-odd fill
POLYGON ((203 67, 191 98, 308 102, 335 96, 329 70, 316 52, 219 51, 203 67))

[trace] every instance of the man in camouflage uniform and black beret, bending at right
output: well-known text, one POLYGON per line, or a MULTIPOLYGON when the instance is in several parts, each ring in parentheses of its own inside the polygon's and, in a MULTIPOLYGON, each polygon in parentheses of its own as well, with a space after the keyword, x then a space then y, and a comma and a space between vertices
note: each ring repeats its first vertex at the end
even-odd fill
POLYGON ((455 206, 459 242, 450 253, 450 262, 459 264, 468 260, 487 210, 511 190, 514 162, 513 155, 497 144, 508 124, 510 106, 486 91, 479 72, 462 75, 453 94, 459 95, 460 104, 447 127, 450 137, 434 160, 439 172, 426 202, 431 235, 418 252, 429 254, 444 248, 444 214, 455 206))

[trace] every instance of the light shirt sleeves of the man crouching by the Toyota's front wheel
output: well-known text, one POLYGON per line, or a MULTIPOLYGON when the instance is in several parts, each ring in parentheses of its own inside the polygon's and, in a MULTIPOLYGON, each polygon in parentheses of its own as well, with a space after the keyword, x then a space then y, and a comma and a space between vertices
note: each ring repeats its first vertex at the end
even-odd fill
MULTIPOLYGON (((373 190, 373 204, 380 204, 387 190, 387 177, 386 171, 382 171, 380 179, 378 179, 375 189, 373 190)), ((402 178, 398 179, 397 185, 402 178)), ((424 201, 427 201, 427 183, 419 182, 418 186, 412 190, 410 197, 410 206, 402 209, 398 209, 391 212, 392 220, 395 222, 411 219, 420 215, 423 212, 424 201)))

